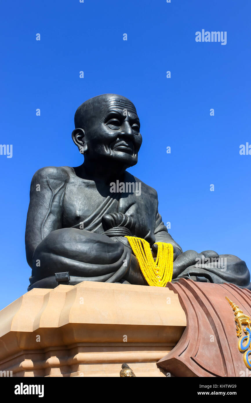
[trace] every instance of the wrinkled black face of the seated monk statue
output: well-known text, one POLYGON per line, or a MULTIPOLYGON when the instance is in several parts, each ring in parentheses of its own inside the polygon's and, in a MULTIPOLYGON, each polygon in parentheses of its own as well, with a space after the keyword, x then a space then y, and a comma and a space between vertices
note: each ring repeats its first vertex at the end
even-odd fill
POLYGON ((127 98, 106 94, 90 100, 92 113, 85 124, 88 157, 137 164, 142 143, 135 106, 127 98))

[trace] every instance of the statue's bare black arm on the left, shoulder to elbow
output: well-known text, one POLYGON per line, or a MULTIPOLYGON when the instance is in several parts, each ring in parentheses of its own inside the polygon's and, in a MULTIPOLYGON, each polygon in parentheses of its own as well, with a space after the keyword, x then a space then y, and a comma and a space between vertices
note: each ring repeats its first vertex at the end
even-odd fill
POLYGON ((25 230, 26 258, 52 231, 62 228, 62 212, 68 173, 64 168, 49 166, 35 172, 30 189, 30 203, 25 230))

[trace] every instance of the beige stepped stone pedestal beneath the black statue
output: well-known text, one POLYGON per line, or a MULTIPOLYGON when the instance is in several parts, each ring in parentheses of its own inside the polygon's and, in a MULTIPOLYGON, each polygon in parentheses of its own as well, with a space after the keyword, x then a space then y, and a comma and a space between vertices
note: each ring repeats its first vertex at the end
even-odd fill
POLYGON ((33 289, 0 312, 0 371, 12 376, 166 376, 157 361, 180 340, 175 290, 83 281, 33 289))

